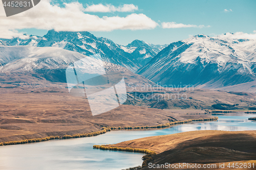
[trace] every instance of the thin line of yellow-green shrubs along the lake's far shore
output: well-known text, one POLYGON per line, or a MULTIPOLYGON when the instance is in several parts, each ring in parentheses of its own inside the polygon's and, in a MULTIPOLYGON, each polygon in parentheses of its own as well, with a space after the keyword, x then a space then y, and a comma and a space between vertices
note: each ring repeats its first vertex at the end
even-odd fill
POLYGON ((12 144, 23 144, 23 143, 32 143, 32 142, 40 142, 40 141, 47 141, 51 139, 68 139, 68 138, 78 138, 78 137, 90 137, 90 136, 97 136, 100 134, 104 134, 108 131, 114 130, 114 129, 150 129, 150 128, 168 128, 170 126, 179 125, 179 124, 186 124, 190 122, 196 122, 196 121, 214 121, 217 120, 218 117, 210 117, 210 118, 199 118, 199 119, 187 119, 182 121, 176 121, 171 123, 166 123, 163 125, 158 126, 136 126, 136 127, 103 127, 101 131, 92 132, 92 133, 83 133, 83 134, 74 134, 74 135, 64 135, 64 136, 49 136, 44 138, 34 138, 34 139, 26 139, 26 140, 19 140, 19 141, 7 141, 0 143, 1 145, 12 145, 12 144))

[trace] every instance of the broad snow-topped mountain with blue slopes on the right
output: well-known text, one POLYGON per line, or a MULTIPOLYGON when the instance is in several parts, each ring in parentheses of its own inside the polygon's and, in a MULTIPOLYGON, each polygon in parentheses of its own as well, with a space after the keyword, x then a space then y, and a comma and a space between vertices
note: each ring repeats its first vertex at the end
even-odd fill
POLYGON ((169 87, 221 88, 251 82, 256 76, 256 40, 197 35, 169 44, 137 74, 169 87))

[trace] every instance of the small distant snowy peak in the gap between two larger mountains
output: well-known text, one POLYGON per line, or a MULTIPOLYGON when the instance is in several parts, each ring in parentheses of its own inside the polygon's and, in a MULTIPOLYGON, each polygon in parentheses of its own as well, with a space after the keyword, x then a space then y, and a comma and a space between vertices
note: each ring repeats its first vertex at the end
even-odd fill
POLYGON ((134 59, 143 66, 166 46, 167 44, 154 45, 141 40, 134 40, 130 44, 120 47, 125 52, 132 54, 134 59))

